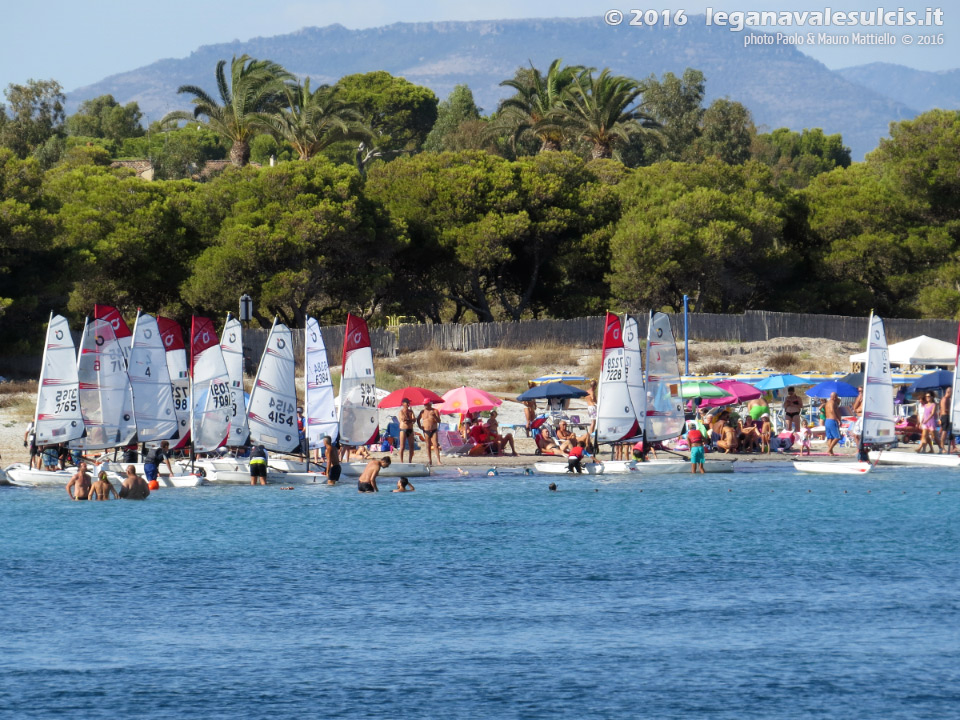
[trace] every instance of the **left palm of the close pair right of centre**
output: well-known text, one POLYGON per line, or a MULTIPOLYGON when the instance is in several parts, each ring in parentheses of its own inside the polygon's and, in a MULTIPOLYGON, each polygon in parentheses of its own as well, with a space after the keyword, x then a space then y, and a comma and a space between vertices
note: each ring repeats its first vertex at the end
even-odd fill
POLYGON ((495 124, 512 131, 514 145, 522 134, 529 132, 540 141, 540 152, 560 149, 563 130, 554 117, 566 101, 570 84, 579 74, 589 72, 580 65, 561 67, 561 62, 557 58, 550 63, 546 76, 531 65, 529 70, 519 70, 513 79, 500 83, 517 91, 500 104, 499 121, 495 124))

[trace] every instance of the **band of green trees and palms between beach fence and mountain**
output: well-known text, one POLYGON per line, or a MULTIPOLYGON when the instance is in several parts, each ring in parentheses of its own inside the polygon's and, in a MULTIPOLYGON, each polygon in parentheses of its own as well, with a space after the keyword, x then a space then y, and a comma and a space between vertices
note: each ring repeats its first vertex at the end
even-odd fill
POLYGON ((193 110, 148 128, 135 103, 66 117, 53 81, 7 88, 7 352, 35 345, 50 309, 183 319, 243 292, 265 326, 563 318, 684 295, 703 312, 957 315, 957 112, 895 123, 851 163, 837 135, 761 133, 740 103, 705 104, 692 69, 520 68, 489 115, 465 85, 440 102, 385 72, 313 88, 243 56, 214 83, 180 88, 193 110), (159 179, 111 167, 124 157, 159 179))

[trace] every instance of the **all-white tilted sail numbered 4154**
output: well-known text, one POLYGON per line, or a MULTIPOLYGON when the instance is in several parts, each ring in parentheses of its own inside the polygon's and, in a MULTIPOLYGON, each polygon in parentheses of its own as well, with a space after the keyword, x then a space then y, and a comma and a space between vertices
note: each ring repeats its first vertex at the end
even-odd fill
POLYGON ((275 452, 291 452, 300 445, 293 338, 290 328, 276 319, 250 391, 247 421, 254 445, 275 452))

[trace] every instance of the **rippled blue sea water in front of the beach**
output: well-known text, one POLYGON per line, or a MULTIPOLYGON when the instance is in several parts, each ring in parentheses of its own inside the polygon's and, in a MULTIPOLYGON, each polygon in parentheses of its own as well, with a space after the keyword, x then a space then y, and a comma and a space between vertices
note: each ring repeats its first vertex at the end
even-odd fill
POLYGON ((0 716, 956 717, 958 479, 4 488, 0 716))

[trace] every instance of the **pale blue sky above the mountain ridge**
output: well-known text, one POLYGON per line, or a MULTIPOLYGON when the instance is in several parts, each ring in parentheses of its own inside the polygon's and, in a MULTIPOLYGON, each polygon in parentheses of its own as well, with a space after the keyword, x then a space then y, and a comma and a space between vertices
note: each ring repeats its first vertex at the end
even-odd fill
MULTIPOLYGON (((458 3, 449 0, 45 0, 40 5, 5 3, 4 39, 0 43, 0 87, 30 78, 53 78, 67 91, 162 58, 189 55, 201 45, 258 36, 280 35, 302 27, 340 23, 351 29, 378 27, 397 22, 441 20, 496 20, 535 17, 602 17, 620 10, 629 18, 632 8, 683 9, 701 14, 718 11, 870 11, 905 8, 923 11, 943 9, 943 27, 924 28, 924 33, 942 33, 943 43, 909 47, 888 46, 801 47, 830 68, 870 62, 893 62, 921 70, 960 67, 960 7, 944 0, 484 0, 458 3), (886 5, 885 5, 886 3, 886 5), (939 3, 939 4, 938 4, 939 3), (956 8, 956 9, 954 9, 956 8)), ((806 27, 804 31, 822 31, 806 27)), ((827 28, 831 34, 840 28, 827 28)), ((895 28, 893 30, 896 30, 895 28)))

